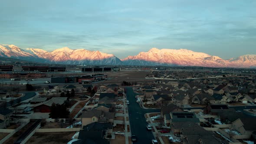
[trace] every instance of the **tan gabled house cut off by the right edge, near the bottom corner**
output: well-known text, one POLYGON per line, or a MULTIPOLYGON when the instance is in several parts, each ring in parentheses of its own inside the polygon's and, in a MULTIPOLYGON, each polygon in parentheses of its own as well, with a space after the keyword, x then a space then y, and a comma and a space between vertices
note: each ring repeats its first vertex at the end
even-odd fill
POLYGON ((250 138, 256 131, 256 118, 238 118, 232 123, 232 128, 239 131, 242 135, 248 135, 250 138))

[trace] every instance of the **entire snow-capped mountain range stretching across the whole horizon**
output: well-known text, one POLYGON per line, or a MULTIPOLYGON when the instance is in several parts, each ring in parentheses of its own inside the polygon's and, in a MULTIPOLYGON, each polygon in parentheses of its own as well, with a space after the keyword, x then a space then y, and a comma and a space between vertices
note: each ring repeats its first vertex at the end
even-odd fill
POLYGON ((86 49, 64 47, 47 52, 43 49, 20 49, 14 45, 0 44, 0 57, 36 61, 43 63, 73 65, 180 65, 204 67, 256 67, 256 55, 243 55, 232 59, 221 59, 203 52, 187 49, 157 49, 140 52, 136 56, 118 59, 112 54, 86 49))

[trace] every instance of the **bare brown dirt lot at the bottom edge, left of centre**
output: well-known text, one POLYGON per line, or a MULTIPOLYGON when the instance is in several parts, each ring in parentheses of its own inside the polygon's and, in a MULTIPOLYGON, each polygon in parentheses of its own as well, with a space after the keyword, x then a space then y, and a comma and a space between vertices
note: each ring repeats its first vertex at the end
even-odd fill
POLYGON ((27 144, 66 144, 75 132, 35 133, 27 144))

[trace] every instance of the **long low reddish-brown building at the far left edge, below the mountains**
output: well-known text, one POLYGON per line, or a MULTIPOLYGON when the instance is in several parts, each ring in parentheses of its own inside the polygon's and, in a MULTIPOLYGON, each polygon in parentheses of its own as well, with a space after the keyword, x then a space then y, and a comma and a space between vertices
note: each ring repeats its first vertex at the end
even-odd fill
POLYGON ((23 72, 23 71, 0 72, 0 79, 13 79, 13 78, 33 79, 33 78, 43 78, 43 77, 46 77, 46 74, 43 72, 23 72))

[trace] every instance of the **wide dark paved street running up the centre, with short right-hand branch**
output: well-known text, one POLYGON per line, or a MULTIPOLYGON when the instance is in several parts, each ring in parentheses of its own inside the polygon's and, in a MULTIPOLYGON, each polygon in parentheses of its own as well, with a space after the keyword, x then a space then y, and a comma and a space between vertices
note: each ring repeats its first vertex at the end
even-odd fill
POLYGON ((131 134, 137 136, 136 144, 150 144, 154 136, 151 131, 147 131, 147 123, 144 114, 149 112, 160 112, 159 109, 143 109, 136 102, 135 93, 131 87, 126 87, 126 97, 129 100, 128 105, 129 120, 131 127, 131 134))

